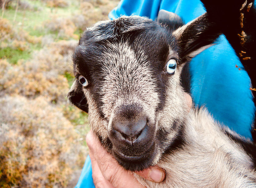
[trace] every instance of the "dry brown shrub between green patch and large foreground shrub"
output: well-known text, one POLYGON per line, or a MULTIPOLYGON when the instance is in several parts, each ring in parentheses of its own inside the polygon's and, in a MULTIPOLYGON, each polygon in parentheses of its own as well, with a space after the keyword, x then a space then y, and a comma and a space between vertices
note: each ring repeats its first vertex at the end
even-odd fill
MULTIPOLYGON (((26 63, 18 61, 17 65, 9 64, 6 69, 2 69, 0 91, 5 94, 19 94, 32 98, 38 95, 47 96, 54 102, 65 101, 63 93, 68 92, 67 79, 54 72, 40 72, 44 66, 32 67, 32 65, 32 61, 26 63)), ((2 67, 1 60, 0 67, 2 67)), ((46 67, 45 70, 47 70, 46 67)))

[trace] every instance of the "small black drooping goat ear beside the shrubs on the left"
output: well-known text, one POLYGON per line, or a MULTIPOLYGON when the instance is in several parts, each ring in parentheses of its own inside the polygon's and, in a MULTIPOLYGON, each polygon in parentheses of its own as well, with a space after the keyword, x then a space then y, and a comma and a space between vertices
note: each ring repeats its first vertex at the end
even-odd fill
POLYGON ((82 87, 76 79, 68 92, 68 102, 88 113, 88 104, 82 87))

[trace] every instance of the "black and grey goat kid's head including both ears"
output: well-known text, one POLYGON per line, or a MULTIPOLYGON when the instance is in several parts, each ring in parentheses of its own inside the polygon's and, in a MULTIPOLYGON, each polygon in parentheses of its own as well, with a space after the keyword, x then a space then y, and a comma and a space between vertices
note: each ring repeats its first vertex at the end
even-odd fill
POLYGON ((123 16, 82 35, 68 100, 88 112, 94 133, 125 169, 143 170, 182 147, 182 64, 216 39, 213 28, 207 14, 177 30, 123 16))

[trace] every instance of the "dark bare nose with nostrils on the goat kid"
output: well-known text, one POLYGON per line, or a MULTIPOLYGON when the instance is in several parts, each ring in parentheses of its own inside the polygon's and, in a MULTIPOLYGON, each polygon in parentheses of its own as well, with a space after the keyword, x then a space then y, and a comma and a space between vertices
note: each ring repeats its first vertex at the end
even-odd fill
POLYGON ((143 117, 138 120, 114 121, 113 127, 117 131, 119 139, 126 139, 134 142, 143 132, 147 125, 147 118, 143 117))

